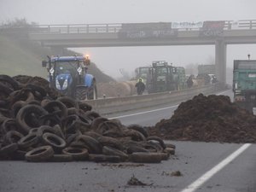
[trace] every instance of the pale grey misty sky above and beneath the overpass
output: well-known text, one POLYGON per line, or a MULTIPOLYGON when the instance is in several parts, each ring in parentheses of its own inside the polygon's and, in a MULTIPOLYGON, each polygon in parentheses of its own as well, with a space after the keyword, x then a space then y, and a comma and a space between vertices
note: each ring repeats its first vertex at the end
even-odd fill
MULTIPOLYGON (((255 20, 255 0, 0 0, 0 22, 25 18, 38 25, 180 22, 205 20, 255 20)), ((115 79, 132 75, 134 69, 152 61, 193 67, 213 64, 213 45, 69 48, 89 54, 103 73, 115 79)), ((227 46, 227 81, 231 82, 233 60, 256 59, 255 44, 227 46)))

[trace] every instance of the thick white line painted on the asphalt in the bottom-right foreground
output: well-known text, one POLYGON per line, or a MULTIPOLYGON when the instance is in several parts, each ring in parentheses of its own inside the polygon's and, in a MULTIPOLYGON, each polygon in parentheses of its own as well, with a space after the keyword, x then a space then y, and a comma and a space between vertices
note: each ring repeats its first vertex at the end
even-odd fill
POLYGON ((227 166, 232 160, 235 160, 238 155, 240 155, 242 152, 244 152, 248 147, 250 147, 252 144, 246 143, 241 146, 241 148, 238 148, 235 152, 230 154, 226 159, 222 160, 220 163, 218 163, 217 166, 212 167, 211 170, 203 174, 201 177, 199 177, 195 182, 189 184, 186 189, 181 190, 180 192, 193 192, 196 189, 198 189, 203 183, 206 183, 207 180, 209 180, 213 175, 215 175, 217 172, 219 172, 221 169, 224 168, 224 166, 227 166))

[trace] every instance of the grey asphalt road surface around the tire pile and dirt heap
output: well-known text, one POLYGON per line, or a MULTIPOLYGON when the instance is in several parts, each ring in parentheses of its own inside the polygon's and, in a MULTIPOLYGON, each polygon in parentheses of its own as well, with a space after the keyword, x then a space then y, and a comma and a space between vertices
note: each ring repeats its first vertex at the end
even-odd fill
MULTIPOLYGON (((160 119, 170 118, 175 108, 177 106, 171 105, 108 118, 118 118, 125 125, 154 125, 160 119)), ((255 144, 166 143, 176 145, 176 154, 160 164, 0 161, 0 192, 256 191, 255 144), (172 176, 177 171, 182 175, 172 176), (145 186, 128 185, 131 177, 145 186)))

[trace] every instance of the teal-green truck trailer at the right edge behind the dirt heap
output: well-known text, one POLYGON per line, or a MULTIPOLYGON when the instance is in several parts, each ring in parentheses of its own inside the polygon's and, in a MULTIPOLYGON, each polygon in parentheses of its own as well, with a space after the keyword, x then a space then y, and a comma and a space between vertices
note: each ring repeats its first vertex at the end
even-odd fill
POLYGON ((235 60, 233 70, 234 102, 253 113, 256 107, 256 60, 235 60))

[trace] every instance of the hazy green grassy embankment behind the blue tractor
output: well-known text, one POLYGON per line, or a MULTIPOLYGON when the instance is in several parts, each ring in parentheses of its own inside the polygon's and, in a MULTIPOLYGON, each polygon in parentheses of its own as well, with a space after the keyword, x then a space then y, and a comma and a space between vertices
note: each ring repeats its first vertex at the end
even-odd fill
MULTIPOLYGON (((0 74, 9 76, 29 75, 47 78, 45 68, 42 67, 42 60, 47 55, 55 55, 49 48, 30 41, 26 34, 1 34, 0 33, 0 74)), ((79 55, 71 50, 65 49, 65 55, 79 55)), ((93 61, 93 58, 92 58, 93 61)), ((107 74, 91 63, 89 73, 96 77, 97 82, 114 81, 107 74)))

